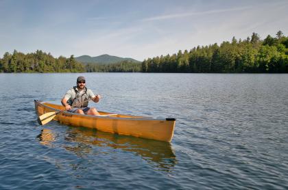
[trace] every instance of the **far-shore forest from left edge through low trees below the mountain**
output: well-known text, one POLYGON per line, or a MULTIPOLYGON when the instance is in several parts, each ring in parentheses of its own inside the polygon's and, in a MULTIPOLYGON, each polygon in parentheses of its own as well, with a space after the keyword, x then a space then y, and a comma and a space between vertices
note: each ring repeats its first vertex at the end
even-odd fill
POLYGON ((141 63, 123 61, 115 64, 82 64, 71 57, 54 58, 50 53, 5 53, 0 72, 141 72, 141 63))

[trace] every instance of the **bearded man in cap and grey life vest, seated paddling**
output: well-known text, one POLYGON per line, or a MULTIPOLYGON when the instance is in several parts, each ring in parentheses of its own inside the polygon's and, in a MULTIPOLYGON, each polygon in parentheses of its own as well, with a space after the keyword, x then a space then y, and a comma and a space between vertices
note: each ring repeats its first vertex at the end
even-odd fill
POLYGON ((85 87, 85 82, 86 80, 84 77, 78 77, 77 86, 74 86, 66 92, 61 103, 69 112, 100 116, 95 107, 88 107, 88 100, 91 99, 93 102, 97 103, 101 96, 99 94, 95 96, 90 89, 85 87))

